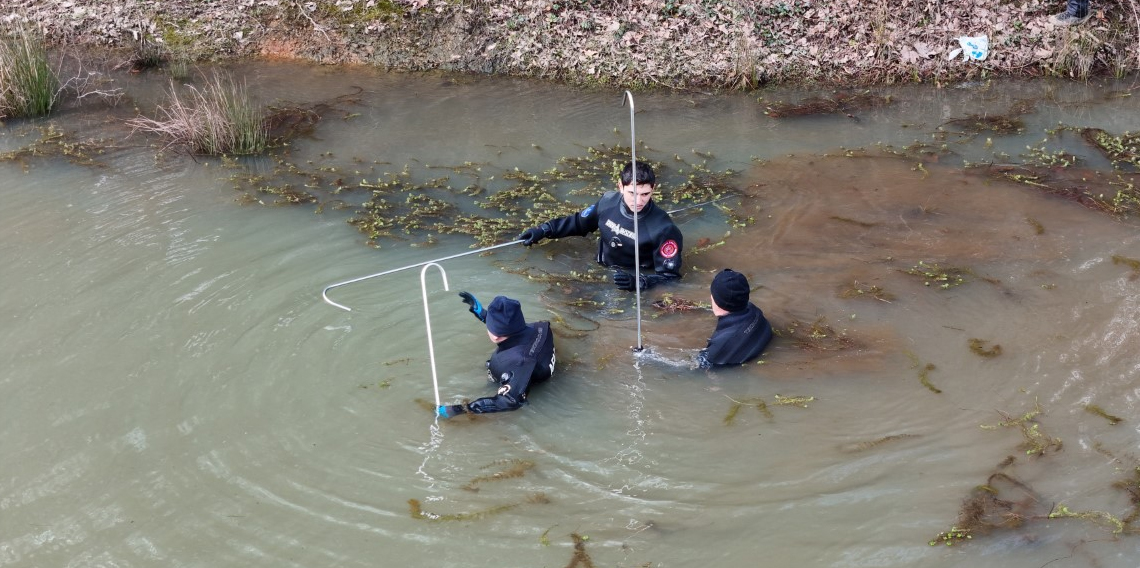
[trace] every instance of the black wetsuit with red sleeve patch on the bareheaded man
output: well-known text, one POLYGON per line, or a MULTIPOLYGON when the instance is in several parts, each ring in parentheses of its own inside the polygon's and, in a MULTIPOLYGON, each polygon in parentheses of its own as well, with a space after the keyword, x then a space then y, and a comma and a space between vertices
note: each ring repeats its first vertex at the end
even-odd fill
MULTIPOLYGON (((597 261, 608 267, 634 268, 634 216, 618 192, 608 192, 579 213, 546 221, 542 229, 548 238, 585 236, 597 230, 597 261)), ((637 240, 646 287, 681 278, 681 229, 653 201, 637 213, 637 240), (645 274, 650 270, 653 274, 645 274)))

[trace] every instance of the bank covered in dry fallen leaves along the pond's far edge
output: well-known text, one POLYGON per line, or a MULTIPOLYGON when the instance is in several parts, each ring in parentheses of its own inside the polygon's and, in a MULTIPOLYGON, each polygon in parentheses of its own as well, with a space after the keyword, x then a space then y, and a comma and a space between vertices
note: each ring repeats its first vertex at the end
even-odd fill
POLYGON ((57 49, 156 49, 166 59, 301 59, 445 70, 576 86, 749 90, 866 87, 996 76, 1122 76, 1140 66, 1134 0, 1093 2, 1058 29, 1061 1, 856 0, 6 0, 8 21, 57 49), (959 38, 985 36, 967 60, 959 38))

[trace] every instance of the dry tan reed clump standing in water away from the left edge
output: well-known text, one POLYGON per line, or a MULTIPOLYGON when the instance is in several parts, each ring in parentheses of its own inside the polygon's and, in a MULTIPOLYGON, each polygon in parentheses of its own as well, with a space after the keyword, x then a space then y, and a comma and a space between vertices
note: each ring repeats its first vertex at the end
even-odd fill
POLYGON ((163 136, 168 146, 185 145, 194 154, 258 154, 269 146, 268 114, 249 96, 244 83, 214 73, 201 88, 179 94, 170 82, 169 103, 158 117, 128 121, 135 130, 163 136))

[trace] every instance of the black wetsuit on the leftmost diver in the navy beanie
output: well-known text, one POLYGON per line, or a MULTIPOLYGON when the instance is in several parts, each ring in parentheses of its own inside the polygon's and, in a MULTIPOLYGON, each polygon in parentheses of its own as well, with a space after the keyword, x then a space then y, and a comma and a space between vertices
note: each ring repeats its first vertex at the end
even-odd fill
POLYGON ((520 333, 503 340, 487 359, 487 378, 499 384, 494 397, 448 407, 448 413, 514 411, 527 403, 530 387, 554 374, 554 336, 551 324, 535 322, 520 333))

